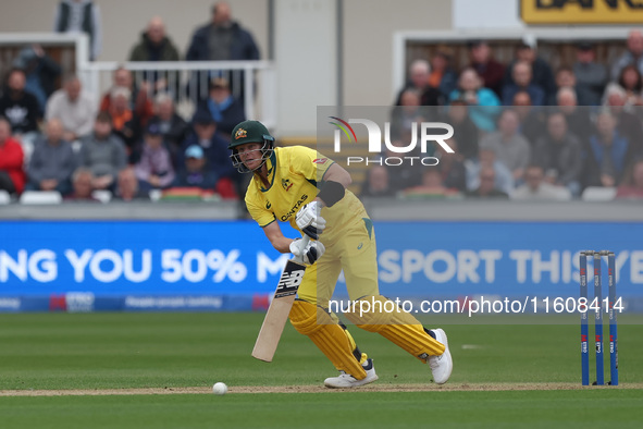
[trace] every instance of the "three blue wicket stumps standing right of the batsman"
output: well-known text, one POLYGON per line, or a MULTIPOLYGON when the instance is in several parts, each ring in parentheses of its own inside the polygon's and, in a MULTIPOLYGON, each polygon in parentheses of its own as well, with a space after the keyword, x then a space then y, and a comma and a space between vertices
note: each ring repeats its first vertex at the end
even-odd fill
POLYGON ((596 344, 596 381, 594 384, 604 385, 604 357, 603 357, 603 311, 604 307, 609 312, 609 376, 611 381, 608 384, 618 385, 618 347, 617 347, 617 320, 614 305, 616 303, 616 270, 614 252, 608 250, 583 250, 580 253, 580 294, 586 306, 581 310, 581 370, 582 384, 590 384, 590 344, 589 344, 589 312, 594 310, 594 341, 596 344), (607 256, 607 302, 603 301, 603 284, 601 262, 603 256, 607 256), (588 258, 594 258, 594 299, 589 299, 588 294, 588 258))

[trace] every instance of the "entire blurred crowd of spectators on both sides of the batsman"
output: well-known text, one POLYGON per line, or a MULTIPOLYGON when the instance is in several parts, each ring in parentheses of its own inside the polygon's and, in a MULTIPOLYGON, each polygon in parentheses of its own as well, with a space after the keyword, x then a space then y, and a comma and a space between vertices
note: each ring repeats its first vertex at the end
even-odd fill
MULTIPOLYGON (((88 34, 90 57, 99 56, 101 17, 91 0, 60 1, 53 21, 57 32, 88 34)), ((435 145, 434 152, 415 154, 434 159, 433 168, 371 163, 362 196, 568 200, 598 189, 606 199, 643 197, 640 30, 629 33, 609 64, 582 41, 574 61, 557 70, 531 39, 506 63, 486 40, 467 48, 469 62, 459 70, 453 46, 412 61, 391 115, 393 146, 408 146, 421 122, 440 121, 454 127, 447 143, 455 152, 435 145)), ((195 28, 184 56, 159 16, 129 52, 129 61, 260 57, 226 2, 195 28)), ((246 119, 243 93, 231 89, 243 75, 212 71, 189 79, 207 88, 197 88, 205 96, 183 118, 175 106, 180 83, 166 74, 146 72, 137 84, 119 68, 104 94, 89 94, 38 45, 24 47, 11 65, 0 93, 0 191, 15 198, 55 191, 64 200, 88 201, 97 200, 96 191, 122 200, 181 196, 185 188, 243 196, 248 177, 232 168, 226 148, 246 119)), ((388 149, 381 159, 397 156, 388 149)))

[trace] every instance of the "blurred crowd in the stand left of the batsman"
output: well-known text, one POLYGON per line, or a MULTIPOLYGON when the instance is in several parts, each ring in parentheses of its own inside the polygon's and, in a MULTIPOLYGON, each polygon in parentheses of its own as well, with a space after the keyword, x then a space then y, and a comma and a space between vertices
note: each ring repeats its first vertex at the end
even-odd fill
MULTIPOLYGON (((84 32, 90 57, 101 49, 100 10, 90 0, 63 0, 57 32, 84 32)), ((212 7, 208 23, 194 30, 185 57, 152 17, 129 53, 129 61, 257 60, 249 32, 232 19, 226 2, 212 7)), ((243 177, 228 159, 234 125, 244 121, 243 98, 232 94, 221 71, 208 72, 190 118, 176 111, 178 81, 149 72, 135 83, 119 68, 104 94, 89 94, 38 45, 14 58, 0 91, 0 191, 18 198, 27 191, 58 192, 65 201, 148 199, 197 195, 238 199, 243 177), (58 85, 57 85, 58 83, 58 85), (59 89, 55 89, 57 86, 59 89), (97 194, 98 192, 98 194, 97 194)), ((243 76, 235 76, 243 79, 243 76)))

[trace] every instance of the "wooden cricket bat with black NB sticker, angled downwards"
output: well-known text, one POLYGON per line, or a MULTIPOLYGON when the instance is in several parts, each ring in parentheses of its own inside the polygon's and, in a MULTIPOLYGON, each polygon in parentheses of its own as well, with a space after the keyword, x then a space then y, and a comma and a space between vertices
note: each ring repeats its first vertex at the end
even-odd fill
MULTIPOLYGON (((302 245, 306 246, 309 240, 308 236, 304 236, 302 245)), ((263 361, 272 361, 305 272, 306 266, 300 258, 295 257, 286 262, 286 268, 282 272, 270 307, 265 312, 259 336, 257 336, 252 357, 263 361)))

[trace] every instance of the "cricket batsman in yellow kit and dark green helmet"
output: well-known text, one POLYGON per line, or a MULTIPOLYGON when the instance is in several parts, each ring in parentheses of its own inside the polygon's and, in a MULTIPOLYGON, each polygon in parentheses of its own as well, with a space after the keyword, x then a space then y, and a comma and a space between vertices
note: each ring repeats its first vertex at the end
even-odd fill
POLYGON ((353 304, 369 303, 355 305, 344 316, 428 363, 433 381, 445 383, 453 370, 445 332, 423 328, 397 306, 396 311, 381 310, 395 303, 380 295, 373 224, 361 201, 346 189, 351 183, 348 172, 307 147, 275 148, 274 137, 258 121, 237 124, 228 148, 238 171, 252 173, 246 193, 250 216, 275 249, 299 256, 310 266, 289 319, 339 371, 324 384, 355 388, 378 380, 373 360, 357 347, 337 316, 327 311, 342 270, 353 304), (284 236, 277 220, 290 222, 311 240, 302 246, 301 238, 284 236))

